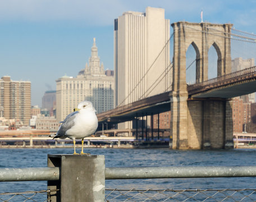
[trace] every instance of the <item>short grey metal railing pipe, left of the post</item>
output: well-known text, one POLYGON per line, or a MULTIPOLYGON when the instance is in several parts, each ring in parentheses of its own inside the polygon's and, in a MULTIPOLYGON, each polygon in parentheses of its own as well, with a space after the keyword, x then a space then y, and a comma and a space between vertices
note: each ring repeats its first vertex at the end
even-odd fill
POLYGON ((60 168, 1 168, 0 182, 59 180, 60 168))

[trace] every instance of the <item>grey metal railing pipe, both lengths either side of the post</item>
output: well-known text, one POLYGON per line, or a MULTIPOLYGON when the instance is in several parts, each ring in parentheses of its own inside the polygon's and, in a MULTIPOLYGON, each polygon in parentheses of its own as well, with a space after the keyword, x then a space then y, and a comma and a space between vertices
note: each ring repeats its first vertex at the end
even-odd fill
MULTIPOLYGON (((256 166, 166 166, 105 168, 106 180, 200 177, 256 177, 256 166)), ((0 182, 52 180, 60 180, 59 167, 0 169, 0 182)))

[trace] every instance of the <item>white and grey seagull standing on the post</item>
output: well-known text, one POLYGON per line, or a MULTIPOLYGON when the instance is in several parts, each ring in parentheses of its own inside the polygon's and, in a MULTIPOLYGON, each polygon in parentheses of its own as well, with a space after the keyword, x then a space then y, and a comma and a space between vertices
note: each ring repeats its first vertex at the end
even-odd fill
POLYGON ((74 143, 74 154, 76 153, 76 139, 82 139, 81 154, 84 153, 84 137, 93 135, 98 127, 98 118, 92 102, 84 100, 77 105, 74 112, 67 115, 57 131, 55 138, 69 138, 74 143))

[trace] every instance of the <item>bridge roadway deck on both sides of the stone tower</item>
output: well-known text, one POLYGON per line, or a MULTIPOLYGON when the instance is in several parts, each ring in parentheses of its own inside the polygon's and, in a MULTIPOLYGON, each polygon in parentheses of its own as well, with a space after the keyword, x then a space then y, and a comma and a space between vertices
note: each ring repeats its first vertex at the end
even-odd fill
MULTIPOLYGON (((256 91, 256 66, 217 77, 198 84, 188 85, 188 99, 227 99, 256 91)), ((97 114, 99 127, 102 123, 116 124, 171 110, 170 93, 167 91, 152 97, 97 114)))

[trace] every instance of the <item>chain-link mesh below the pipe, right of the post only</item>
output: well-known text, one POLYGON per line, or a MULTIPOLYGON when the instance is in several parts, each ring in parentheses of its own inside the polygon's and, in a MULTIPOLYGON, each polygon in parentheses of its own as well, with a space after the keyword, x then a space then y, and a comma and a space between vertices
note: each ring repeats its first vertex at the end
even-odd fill
POLYGON ((256 201, 255 189, 106 189, 114 201, 256 201))

